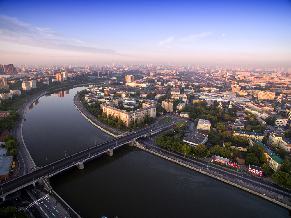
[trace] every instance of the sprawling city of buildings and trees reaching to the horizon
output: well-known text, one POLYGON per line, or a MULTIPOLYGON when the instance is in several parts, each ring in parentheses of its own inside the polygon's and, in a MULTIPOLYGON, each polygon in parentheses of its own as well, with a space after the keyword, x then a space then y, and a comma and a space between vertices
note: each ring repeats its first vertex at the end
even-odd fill
MULTIPOLYGON (((0 65, 1 182, 14 176, 19 143, 10 131, 20 117, 18 108, 45 90, 64 88, 58 92, 64 97, 65 87, 90 83, 79 92, 79 100, 111 134, 126 134, 146 125, 154 128, 160 116, 160 123, 183 118, 157 135, 155 144, 194 158, 213 157, 217 165, 235 171, 248 167, 250 173, 291 189, 290 73, 291 69, 284 68, 114 62, 0 65)), ((13 212, 13 206, 0 211, 4 217, 13 212)))

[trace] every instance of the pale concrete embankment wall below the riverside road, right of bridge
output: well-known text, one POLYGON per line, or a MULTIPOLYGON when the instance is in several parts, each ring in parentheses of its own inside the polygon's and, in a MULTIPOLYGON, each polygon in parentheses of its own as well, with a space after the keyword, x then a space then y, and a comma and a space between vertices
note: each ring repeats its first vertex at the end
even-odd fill
POLYGON ((251 193, 251 194, 255 194, 255 195, 257 195, 257 196, 259 196, 259 197, 261 197, 261 198, 263 198, 263 199, 265 199, 265 200, 267 200, 267 201, 270 201, 270 202, 275 203, 275 204, 277 204, 277 205, 279 205, 279 206, 281 206, 281 207, 283 207, 283 208, 286 208, 286 209, 288 209, 288 210, 291 210, 291 207, 290 207, 290 206, 288 206, 288 205, 286 205, 286 204, 284 204, 284 203, 281 203, 281 202, 279 202, 279 201, 276 201, 276 200, 273 199, 273 198, 270 198, 270 197, 268 197, 268 196, 265 196, 265 195, 263 195, 263 194, 260 194, 260 193, 258 193, 258 192, 255 192, 254 190, 251 190, 251 189, 246 188, 246 187, 241 186, 241 185, 237 185, 236 183, 233 183, 233 182, 230 182, 230 181, 228 181, 228 180, 226 180, 226 179, 223 179, 223 178, 221 178, 221 177, 215 176, 214 174, 207 173, 207 172, 205 172, 205 171, 203 171, 203 170, 201 170, 201 169, 198 169, 198 168, 196 168, 196 167, 192 167, 192 166, 190 166, 190 165, 187 165, 187 164, 181 163, 181 162, 179 162, 179 161, 177 161, 177 160, 174 160, 174 159, 172 159, 172 158, 168 158, 168 157, 166 157, 166 156, 163 156, 163 155, 161 155, 161 154, 159 154, 159 153, 156 153, 156 152, 154 152, 154 151, 151 151, 151 150, 145 149, 143 146, 141 146, 141 144, 137 144, 137 147, 139 147, 139 148, 141 148, 141 149, 143 149, 143 150, 145 150, 145 151, 148 151, 148 152, 150 152, 150 153, 152 153, 152 154, 155 154, 155 155, 157 155, 157 156, 159 156, 159 157, 162 157, 162 158, 164 158, 164 159, 166 159, 166 160, 170 160, 170 161, 172 161, 172 162, 174 162, 174 163, 180 164, 180 165, 182 165, 182 166, 184 166, 184 167, 187 167, 187 168, 189 168, 189 169, 193 169, 193 170, 195 170, 195 171, 197 171, 197 172, 199 172, 199 173, 205 174, 205 175, 207 175, 207 176, 210 176, 210 177, 212 177, 212 178, 215 178, 215 179, 217 179, 217 180, 220 180, 220 181, 222 181, 222 182, 224 182, 224 183, 227 183, 227 184, 229 184, 229 185, 235 186, 235 187, 237 187, 237 188, 239 188, 239 189, 242 189, 242 190, 244 190, 244 191, 246 191, 246 192, 249 192, 249 193, 251 193))

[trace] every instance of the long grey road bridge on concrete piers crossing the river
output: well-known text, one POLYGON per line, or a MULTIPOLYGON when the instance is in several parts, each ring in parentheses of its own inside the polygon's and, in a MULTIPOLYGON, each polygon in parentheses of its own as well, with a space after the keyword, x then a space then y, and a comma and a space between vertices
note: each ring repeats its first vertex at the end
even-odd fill
POLYGON ((133 145, 134 140, 136 140, 137 138, 153 135, 159 131, 169 128, 169 126, 172 124, 173 121, 168 121, 163 124, 158 124, 155 127, 149 127, 140 131, 132 132, 128 135, 118 137, 116 139, 107 141, 102 144, 98 144, 89 149, 67 156, 61 160, 55 161, 43 167, 38 167, 38 169, 35 169, 28 174, 19 176, 11 181, 1 184, 0 197, 2 197, 2 199, 4 200, 5 196, 7 196, 8 194, 11 194, 28 185, 35 185, 36 182, 40 184, 44 183, 49 188, 49 184, 47 183, 46 178, 58 174, 73 166, 77 166, 79 167, 79 169, 83 169, 83 162, 88 161, 92 158, 96 158, 103 153, 112 155, 114 149, 117 149, 124 144, 130 143, 131 145, 133 145))

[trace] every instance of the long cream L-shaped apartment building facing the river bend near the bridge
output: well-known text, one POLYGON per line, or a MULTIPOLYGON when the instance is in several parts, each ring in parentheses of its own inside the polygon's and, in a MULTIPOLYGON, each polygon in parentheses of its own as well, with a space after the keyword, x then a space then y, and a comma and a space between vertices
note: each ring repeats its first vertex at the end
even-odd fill
POLYGON ((123 121, 123 124, 125 126, 128 126, 129 122, 133 120, 143 120, 146 114, 148 114, 150 117, 154 117, 154 118, 156 117, 155 106, 133 110, 130 112, 113 108, 107 104, 103 104, 102 106, 103 106, 103 112, 107 115, 107 118, 109 118, 109 115, 111 115, 112 117, 117 116, 119 119, 123 121))

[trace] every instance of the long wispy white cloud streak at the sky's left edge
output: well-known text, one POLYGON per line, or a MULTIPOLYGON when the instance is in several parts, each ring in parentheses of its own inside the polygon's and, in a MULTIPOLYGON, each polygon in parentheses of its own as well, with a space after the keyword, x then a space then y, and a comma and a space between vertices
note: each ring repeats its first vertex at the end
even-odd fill
POLYGON ((81 40, 66 38, 50 28, 33 27, 5 15, 0 15, 0 42, 44 49, 120 55, 113 49, 86 46, 81 40))

